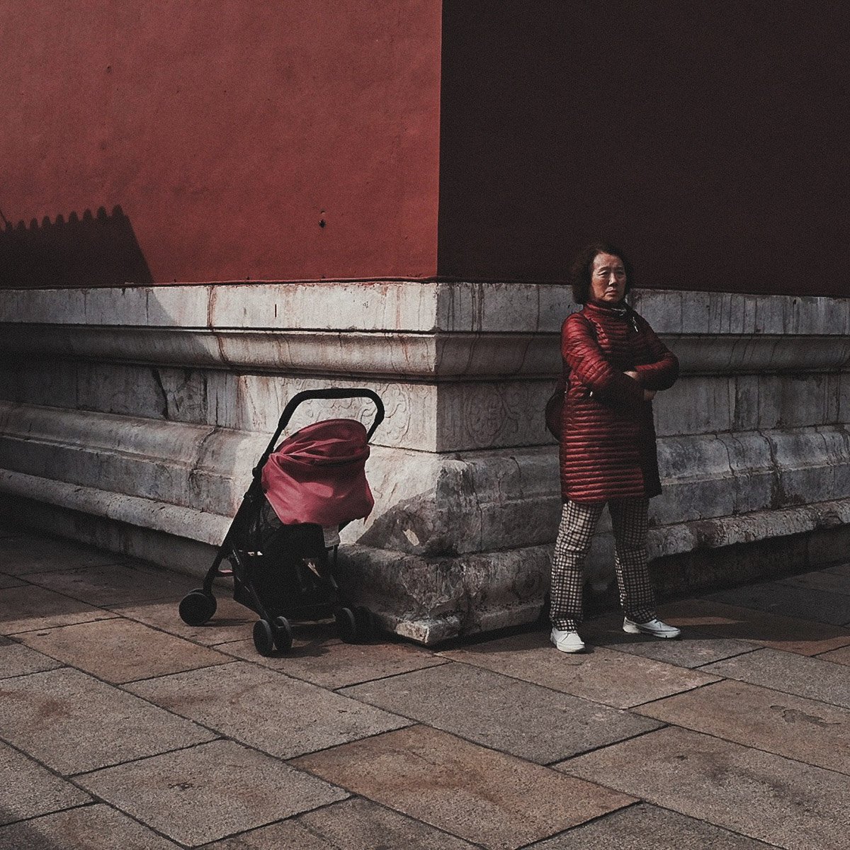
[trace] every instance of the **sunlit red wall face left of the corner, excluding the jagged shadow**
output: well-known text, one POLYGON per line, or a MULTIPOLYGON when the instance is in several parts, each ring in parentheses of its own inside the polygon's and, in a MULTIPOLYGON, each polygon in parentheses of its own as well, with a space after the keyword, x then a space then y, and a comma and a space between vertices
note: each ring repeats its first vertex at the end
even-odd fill
POLYGON ((434 274, 439 0, 0 14, 9 221, 120 205, 156 281, 434 274))

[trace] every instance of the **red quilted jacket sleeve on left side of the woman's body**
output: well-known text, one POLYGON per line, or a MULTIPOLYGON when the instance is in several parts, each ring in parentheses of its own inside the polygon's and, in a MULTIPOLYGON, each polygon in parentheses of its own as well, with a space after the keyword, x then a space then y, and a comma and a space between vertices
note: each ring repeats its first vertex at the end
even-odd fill
POLYGON ((583 384, 600 401, 617 406, 643 404, 643 387, 605 360, 590 322, 580 313, 564 320, 561 355, 570 366, 570 380, 583 384))

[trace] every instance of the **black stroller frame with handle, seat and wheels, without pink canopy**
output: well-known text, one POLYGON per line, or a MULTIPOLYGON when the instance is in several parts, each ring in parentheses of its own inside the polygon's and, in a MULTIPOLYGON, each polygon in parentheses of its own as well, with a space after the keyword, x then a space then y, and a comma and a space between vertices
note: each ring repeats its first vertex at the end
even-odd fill
MULTIPOLYGON (((337 544, 328 547, 318 525, 283 525, 263 493, 263 467, 289 424, 297 407, 309 399, 370 399, 376 407, 366 440, 383 421, 384 408, 371 389, 312 389, 293 396, 286 404, 275 433, 252 469, 252 480, 242 497, 229 530, 218 547, 212 566, 197 587, 180 602, 180 619, 202 626, 216 611, 212 582, 220 576, 233 578, 236 602, 259 615, 254 623, 254 646, 260 655, 292 647, 292 626, 287 615, 320 620, 333 615, 337 632, 346 643, 368 640, 375 633, 375 617, 369 609, 348 604, 337 584, 337 544), (275 557, 276 555, 276 557, 275 557), (230 569, 222 567, 228 561, 230 569), (275 575, 275 572, 277 575, 275 575)), ((348 523, 340 524, 343 530, 348 523)))

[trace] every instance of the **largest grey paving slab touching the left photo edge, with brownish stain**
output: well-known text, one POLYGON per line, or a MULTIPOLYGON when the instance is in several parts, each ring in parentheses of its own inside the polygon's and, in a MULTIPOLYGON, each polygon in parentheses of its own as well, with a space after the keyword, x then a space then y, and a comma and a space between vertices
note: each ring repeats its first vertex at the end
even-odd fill
POLYGON ((62 667, 0 680, 0 737, 60 774, 77 774, 215 736, 62 667))

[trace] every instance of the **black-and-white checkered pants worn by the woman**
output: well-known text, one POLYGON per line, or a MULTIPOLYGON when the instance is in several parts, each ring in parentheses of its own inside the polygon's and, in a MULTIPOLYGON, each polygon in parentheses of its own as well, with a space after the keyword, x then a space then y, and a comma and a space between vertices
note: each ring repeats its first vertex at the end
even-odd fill
MULTIPOLYGON (((549 617, 556 629, 575 631, 581 623, 584 562, 604 507, 604 501, 589 504, 567 501, 564 505, 552 559, 549 617)), ((629 620, 645 623, 655 617, 655 594, 649 583, 646 549, 649 499, 611 499, 608 509, 614 530, 620 604, 629 620)))

